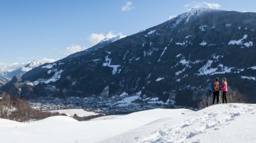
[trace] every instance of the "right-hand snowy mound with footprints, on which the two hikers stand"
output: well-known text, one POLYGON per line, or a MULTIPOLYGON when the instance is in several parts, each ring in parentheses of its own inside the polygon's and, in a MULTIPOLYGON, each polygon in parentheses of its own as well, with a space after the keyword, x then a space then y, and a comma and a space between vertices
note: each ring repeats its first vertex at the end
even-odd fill
POLYGON ((255 142, 255 113, 253 104, 222 104, 198 112, 172 110, 170 117, 101 142, 255 142))

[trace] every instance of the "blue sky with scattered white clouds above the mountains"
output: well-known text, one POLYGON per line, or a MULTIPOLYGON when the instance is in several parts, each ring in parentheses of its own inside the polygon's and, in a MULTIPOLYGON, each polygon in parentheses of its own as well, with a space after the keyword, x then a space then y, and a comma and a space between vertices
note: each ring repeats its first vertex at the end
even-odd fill
POLYGON ((0 68, 62 59, 104 37, 137 33, 196 5, 256 11, 255 0, 0 0, 0 68))

